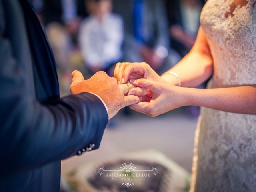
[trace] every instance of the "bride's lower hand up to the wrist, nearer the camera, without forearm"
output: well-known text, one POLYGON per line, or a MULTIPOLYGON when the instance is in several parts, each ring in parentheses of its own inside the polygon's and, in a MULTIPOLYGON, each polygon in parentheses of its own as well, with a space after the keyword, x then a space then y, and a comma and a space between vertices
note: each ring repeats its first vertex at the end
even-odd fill
POLYGON ((146 79, 130 81, 136 86, 130 94, 144 97, 152 94, 151 100, 131 105, 130 108, 135 111, 155 117, 188 104, 186 88, 146 79))

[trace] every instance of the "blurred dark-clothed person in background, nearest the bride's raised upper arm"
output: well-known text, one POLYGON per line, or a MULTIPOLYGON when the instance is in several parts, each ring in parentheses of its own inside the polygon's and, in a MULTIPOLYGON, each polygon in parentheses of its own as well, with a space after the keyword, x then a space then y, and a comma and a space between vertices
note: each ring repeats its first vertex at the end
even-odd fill
POLYGON ((192 48, 204 0, 166 0, 171 47, 184 57, 192 48))

